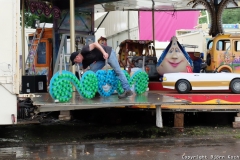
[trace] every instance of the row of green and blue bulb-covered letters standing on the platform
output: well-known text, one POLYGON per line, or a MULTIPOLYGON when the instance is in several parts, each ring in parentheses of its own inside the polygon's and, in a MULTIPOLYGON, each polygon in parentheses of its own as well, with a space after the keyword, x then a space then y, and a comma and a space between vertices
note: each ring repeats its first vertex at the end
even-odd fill
MULTIPOLYGON (((143 71, 135 72, 132 77, 123 70, 130 86, 134 86, 136 94, 144 93, 148 87, 148 74, 143 71)), ((59 102, 68 102, 72 98, 73 86, 78 93, 87 99, 95 96, 96 92, 104 97, 110 96, 115 90, 118 93, 123 93, 124 90, 116 73, 113 70, 99 70, 97 73, 92 71, 85 72, 81 80, 79 80, 72 72, 62 71, 54 74, 50 81, 49 93, 51 97, 59 102), (104 90, 103 87, 108 85, 109 90, 104 90)))

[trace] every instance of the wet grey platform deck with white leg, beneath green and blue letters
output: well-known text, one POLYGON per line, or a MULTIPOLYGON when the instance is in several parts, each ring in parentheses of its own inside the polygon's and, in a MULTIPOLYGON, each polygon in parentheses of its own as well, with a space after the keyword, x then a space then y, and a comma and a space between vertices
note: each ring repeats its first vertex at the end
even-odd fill
POLYGON ((188 101, 178 100, 173 97, 163 96, 158 93, 146 92, 141 95, 134 94, 131 97, 118 99, 117 95, 110 97, 95 97, 93 99, 84 99, 76 92, 73 92, 73 98, 68 103, 56 103, 50 94, 43 93, 32 98, 33 105, 38 107, 39 112, 80 110, 95 108, 110 108, 132 105, 155 105, 156 106, 156 126, 162 128, 162 104, 187 104, 188 101))

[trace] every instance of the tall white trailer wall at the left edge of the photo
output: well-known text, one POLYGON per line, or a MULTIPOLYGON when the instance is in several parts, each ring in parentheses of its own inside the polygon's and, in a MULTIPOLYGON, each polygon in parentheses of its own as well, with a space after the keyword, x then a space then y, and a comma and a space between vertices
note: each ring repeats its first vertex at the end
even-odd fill
POLYGON ((0 0, 0 125, 17 123, 20 1, 0 0))

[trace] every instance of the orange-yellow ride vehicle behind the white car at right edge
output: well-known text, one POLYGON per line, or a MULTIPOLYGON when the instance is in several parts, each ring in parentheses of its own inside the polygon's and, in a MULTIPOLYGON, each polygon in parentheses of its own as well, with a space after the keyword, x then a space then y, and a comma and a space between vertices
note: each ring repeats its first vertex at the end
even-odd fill
POLYGON ((207 72, 240 73, 240 34, 219 34, 207 43, 207 72))

